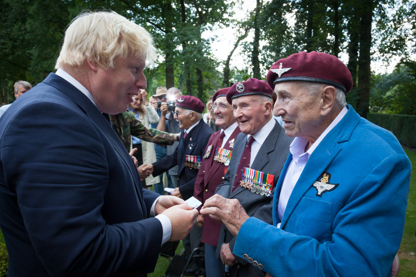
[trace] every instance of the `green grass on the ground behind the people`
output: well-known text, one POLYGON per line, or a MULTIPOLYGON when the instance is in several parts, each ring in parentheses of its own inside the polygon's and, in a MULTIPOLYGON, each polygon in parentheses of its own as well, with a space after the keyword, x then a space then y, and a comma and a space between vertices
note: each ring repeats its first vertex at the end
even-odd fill
MULTIPOLYGON (((410 179, 409 201, 407 203, 406 223, 404 225, 404 232, 402 243, 399 249, 400 257, 400 277, 415 277, 416 276, 416 152, 405 149, 407 156, 412 163, 412 176, 410 179)), ((0 241, 4 243, 4 237, 0 231, 0 241)), ((183 249, 182 242, 176 249, 176 254, 183 249)), ((148 277, 160 277, 168 268, 170 260, 159 256, 156 267, 153 273, 148 274, 148 277)))

